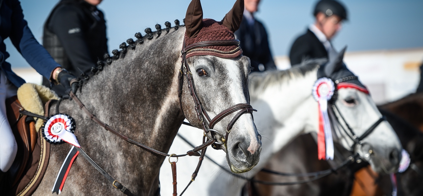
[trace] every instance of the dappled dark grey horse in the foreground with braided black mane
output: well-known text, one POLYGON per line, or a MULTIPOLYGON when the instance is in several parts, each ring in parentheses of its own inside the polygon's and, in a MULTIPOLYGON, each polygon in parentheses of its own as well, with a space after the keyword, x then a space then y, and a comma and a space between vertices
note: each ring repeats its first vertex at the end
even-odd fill
MULTIPOLYGON (((242 5, 242 9, 243 7, 242 5)), ((242 17, 238 19, 240 23, 242 17)), ((236 19, 233 21, 236 22, 236 19)), ((184 113, 181 112, 178 97, 184 35, 186 29, 195 25, 201 28, 201 25, 186 24, 185 28, 179 25, 179 21, 175 23, 176 27, 170 27, 170 23, 166 22, 165 29, 157 24, 157 31, 151 32, 148 28, 145 36, 137 33, 136 41, 127 41, 129 46, 123 43, 121 51, 113 51, 113 57, 105 55, 104 62, 99 63, 103 70, 96 71, 97 68, 93 68, 96 74, 84 81, 76 94, 85 107, 104 123, 129 138, 162 152, 168 152, 184 118, 190 120, 195 127, 201 128, 187 80, 184 80, 182 89, 184 113)), ((211 33, 210 36, 217 35, 211 33)), ((210 117, 235 104, 249 103, 248 57, 194 56, 188 58, 187 63, 192 71, 198 98, 210 117), (204 76, 205 71, 207 76, 204 76)), ((51 112, 55 113, 54 106, 51 112)), ((104 130, 90 120, 90 116, 72 100, 63 100, 60 112, 74 118, 75 135, 82 148, 115 180, 135 195, 148 196, 157 192, 159 169, 165 160, 164 156, 147 152, 104 130)), ((234 116, 232 113, 223 118, 214 129, 225 135, 226 126, 234 116)), ((203 133, 201 130, 197 131, 201 135, 197 140, 201 141, 203 133)), ((257 164, 261 141, 251 114, 239 117, 231 129, 225 147, 231 157, 228 163, 239 169, 239 172, 250 170, 257 164)), ((69 144, 51 145, 46 174, 33 195, 51 194, 56 175, 69 149, 69 144)), ((183 159, 179 158, 180 161, 183 159)), ((61 195, 120 194, 122 193, 82 156, 74 161, 61 192, 61 195)))

